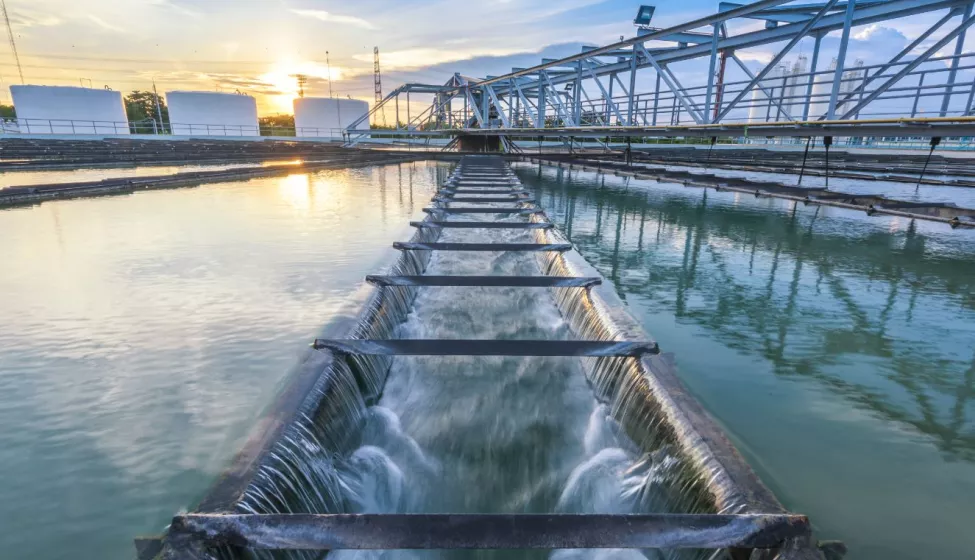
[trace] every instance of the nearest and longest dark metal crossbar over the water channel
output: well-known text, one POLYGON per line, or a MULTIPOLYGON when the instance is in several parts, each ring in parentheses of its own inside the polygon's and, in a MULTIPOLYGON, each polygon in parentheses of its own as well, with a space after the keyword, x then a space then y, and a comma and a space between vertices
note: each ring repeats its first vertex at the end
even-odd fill
POLYGON ((187 514, 170 534, 267 550, 776 548, 808 536, 785 514, 187 514))

